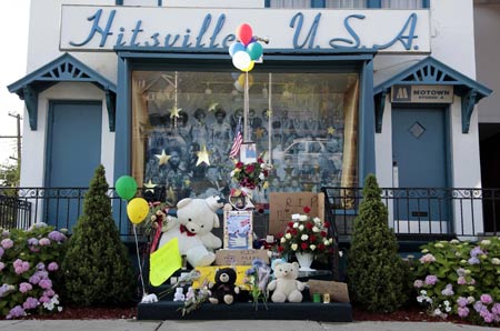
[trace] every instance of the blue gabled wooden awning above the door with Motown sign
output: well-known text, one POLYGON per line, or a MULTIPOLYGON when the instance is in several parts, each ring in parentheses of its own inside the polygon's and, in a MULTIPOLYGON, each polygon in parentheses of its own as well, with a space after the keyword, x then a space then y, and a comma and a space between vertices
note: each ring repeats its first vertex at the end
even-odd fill
POLYGON ((409 67, 399 68, 399 71, 391 72, 390 78, 384 78, 381 81, 373 88, 377 133, 382 131, 386 96, 394 84, 453 86, 453 93, 462 99, 462 133, 469 132, 470 118, 476 103, 492 92, 489 88, 432 57, 427 57, 409 67))

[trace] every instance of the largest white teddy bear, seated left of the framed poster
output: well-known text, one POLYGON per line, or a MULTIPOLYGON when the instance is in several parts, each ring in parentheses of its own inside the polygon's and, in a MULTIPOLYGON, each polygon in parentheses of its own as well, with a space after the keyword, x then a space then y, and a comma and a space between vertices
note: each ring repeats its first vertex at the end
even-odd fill
POLYGON ((213 250, 221 248, 222 241, 210 231, 220 227, 217 210, 222 207, 222 199, 217 195, 207 199, 182 199, 177 204, 177 217, 167 218, 159 248, 178 238, 179 252, 186 255, 189 264, 212 264, 216 260, 213 250))

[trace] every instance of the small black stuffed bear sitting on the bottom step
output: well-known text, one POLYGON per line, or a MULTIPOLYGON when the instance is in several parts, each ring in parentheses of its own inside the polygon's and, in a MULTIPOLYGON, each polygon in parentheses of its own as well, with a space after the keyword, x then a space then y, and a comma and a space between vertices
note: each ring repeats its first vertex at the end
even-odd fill
POLYGON ((216 272, 216 282, 210 283, 212 295, 209 298, 213 304, 222 303, 231 304, 236 294, 240 293, 240 288, 234 283, 237 273, 232 268, 218 269, 216 272))

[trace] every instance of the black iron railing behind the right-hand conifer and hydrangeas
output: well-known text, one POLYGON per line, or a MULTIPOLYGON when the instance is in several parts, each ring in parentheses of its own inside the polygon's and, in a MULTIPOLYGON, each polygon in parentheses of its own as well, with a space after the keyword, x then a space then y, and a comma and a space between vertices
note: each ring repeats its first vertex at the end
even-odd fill
MULTIPOLYGON (((352 232, 362 189, 321 189, 340 237, 352 232)), ((500 189, 384 188, 389 224, 399 237, 451 238, 500 234, 500 189)))

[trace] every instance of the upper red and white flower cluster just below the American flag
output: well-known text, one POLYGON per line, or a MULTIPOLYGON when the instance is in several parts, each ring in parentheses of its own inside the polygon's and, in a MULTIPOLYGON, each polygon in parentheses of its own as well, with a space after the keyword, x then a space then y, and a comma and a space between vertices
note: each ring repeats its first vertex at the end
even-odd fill
POLYGON ((262 157, 257 158, 257 162, 247 163, 237 162, 234 169, 231 171, 231 179, 236 181, 241 188, 267 189, 269 171, 272 170, 272 164, 266 163, 262 157))

